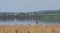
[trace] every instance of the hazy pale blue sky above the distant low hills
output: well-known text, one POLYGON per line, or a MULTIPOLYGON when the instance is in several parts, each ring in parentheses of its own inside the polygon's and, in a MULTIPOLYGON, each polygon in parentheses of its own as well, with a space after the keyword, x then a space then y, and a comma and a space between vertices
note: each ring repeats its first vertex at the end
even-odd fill
POLYGON ((60 9, 60 0, 0 0, 0 12, 34 12, 60 9))

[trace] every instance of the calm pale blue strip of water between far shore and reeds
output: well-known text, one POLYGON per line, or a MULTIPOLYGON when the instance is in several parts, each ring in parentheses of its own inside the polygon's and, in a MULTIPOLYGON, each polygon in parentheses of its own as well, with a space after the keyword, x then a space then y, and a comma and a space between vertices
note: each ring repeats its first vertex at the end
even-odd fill
POLYGON ((1 20, 0 25, 33 25, 36 24, 36 21, 38 21, 38 24, 60 24, 60 22, 51 22, 51 21, 41 21, 41 20, 1 20))

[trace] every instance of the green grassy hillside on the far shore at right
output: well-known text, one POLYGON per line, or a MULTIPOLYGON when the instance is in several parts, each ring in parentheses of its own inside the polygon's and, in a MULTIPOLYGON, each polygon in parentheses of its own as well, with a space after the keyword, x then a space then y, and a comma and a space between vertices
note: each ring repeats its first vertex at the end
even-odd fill
POLYGON ((52 21, 58 21, 60 20, 60 13, 45 13, 41 15, 42 20, 52 20, 52 21))

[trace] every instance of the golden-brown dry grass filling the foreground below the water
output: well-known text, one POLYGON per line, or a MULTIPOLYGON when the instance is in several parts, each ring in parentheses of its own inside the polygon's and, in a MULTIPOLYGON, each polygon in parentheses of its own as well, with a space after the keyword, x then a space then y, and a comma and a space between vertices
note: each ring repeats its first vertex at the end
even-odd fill
POLYGON ((0 33, 60 33, 60 25, 0 26, 0 33))

